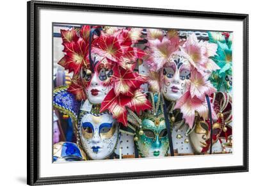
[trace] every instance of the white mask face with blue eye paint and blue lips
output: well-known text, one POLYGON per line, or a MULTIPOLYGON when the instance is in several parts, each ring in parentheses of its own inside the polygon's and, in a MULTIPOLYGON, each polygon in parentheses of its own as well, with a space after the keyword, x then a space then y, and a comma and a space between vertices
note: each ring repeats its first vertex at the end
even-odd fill
POLYGON ((111 114, 85 114, 80 122, 79 135, 90 159, 106 159, 115 149, 118 125, 111 114))

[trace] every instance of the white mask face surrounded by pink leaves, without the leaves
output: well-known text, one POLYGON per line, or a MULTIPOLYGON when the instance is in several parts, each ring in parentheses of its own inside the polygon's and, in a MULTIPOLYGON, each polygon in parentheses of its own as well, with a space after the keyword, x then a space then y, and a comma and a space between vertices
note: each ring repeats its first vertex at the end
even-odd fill
POLYGON ((190 77, 188 59, 173 55, 172 62, 161 72, 161 91, 167 100, 178 100, 186 91, 186 81, 190 77))

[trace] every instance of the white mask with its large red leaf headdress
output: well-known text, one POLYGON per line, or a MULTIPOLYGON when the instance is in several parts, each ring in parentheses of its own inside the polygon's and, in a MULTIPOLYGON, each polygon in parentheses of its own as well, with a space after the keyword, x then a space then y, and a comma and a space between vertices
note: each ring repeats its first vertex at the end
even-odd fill
POLYGON ((81 27, 79 32, 61 30, 66 54, 58 64, 74 73, 68 92, 79 101, 100 104, 99 112, 111 112, 125 126, 126 107, 134 112, 151 109, 140 89, 147 77, 134 72, 136 61, 145 56, 143 50, 134 47, 141 40, 141 31, 123 27, 109 35, 90 26, 81 27))

